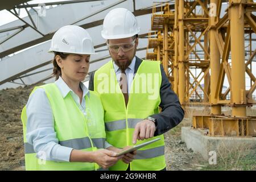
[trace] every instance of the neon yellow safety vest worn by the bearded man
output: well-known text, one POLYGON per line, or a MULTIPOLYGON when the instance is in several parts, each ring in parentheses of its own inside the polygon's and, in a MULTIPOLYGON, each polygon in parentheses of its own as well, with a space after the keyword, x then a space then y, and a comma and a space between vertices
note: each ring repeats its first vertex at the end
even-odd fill
MULTIPOLYGON (((105 64, 94 74, 94 91, 100 94, 105 110, 106 140, 114 147, 132 146, 135 125, 148 115, 159 113, 160 85, 162 76, 159 61, 143 60, 131 84, 129 102, 117 82, 113 61, 105 64), (154 90, 154 91, 152 91, 154 90)), ((131 171, 161 170, 166 167, 164 159, 164 137, 159 135, 137 144, 161 138, 137 151, 135 160, 130 163, 131 171)), ((110 170, 126 170, 128 164, 119 160, 110 170)))

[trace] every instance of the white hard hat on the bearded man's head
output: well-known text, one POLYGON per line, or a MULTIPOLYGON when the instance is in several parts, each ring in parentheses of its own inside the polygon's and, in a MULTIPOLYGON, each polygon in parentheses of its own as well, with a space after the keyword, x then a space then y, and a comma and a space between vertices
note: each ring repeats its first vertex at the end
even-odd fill
POLYGON ((138 34, 139 30, 133 13, 124 8, 117 8, 105 16, 101 36, 104 39, 129 38, 138 34))

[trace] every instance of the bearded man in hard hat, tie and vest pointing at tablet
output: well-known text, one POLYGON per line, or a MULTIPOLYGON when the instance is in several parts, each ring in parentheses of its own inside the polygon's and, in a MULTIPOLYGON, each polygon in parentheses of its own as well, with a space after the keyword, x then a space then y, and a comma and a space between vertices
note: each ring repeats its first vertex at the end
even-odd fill
POLYGON ((130 146, 137 139, 138 144, 149 138, 160 140, 137 150, 133 162, 119 160, 110 170, 166 170, 163 133, 184 117, 160 62, 135 56, 138 33, 129 10, 117 8, 106 15, 101 35, 112 60, 90 76, 89 89, 100 94, 106 140, 114 147, 130 146))

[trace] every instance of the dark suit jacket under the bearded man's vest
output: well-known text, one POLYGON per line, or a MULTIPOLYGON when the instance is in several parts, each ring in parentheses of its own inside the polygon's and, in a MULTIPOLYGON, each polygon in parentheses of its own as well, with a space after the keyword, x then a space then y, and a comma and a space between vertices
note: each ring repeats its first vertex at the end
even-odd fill
MULTIPOLYGON (((134 74, 137 73, 139 65, 141 65, 142 60, 136 56, 135 70, 134 74)), ((180 105, 179 98, 171 89, 171 84, 164 72, 163 65, 160 65, 162 74, 162 83, 160 86, 160 98, 161 103, 159 107, 162 108, 162 112, 159 114, 150 115, 157 121, 157 127, 154 136, 166 133, 166 131, 177 126, 184 117, 184 110, 180 105)), ((90 75, 89 90, 94 90, 93 87, 94 72, 90 75)))

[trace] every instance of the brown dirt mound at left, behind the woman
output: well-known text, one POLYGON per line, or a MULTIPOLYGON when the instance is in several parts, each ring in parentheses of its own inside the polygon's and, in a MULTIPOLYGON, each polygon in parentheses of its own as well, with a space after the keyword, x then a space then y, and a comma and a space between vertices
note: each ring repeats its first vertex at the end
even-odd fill
POLYGON ((0 170, 24 169, 20 115, 33 88, 34 86, 19 86, 0 90, 0 170))

